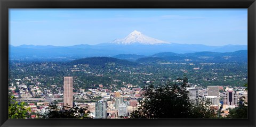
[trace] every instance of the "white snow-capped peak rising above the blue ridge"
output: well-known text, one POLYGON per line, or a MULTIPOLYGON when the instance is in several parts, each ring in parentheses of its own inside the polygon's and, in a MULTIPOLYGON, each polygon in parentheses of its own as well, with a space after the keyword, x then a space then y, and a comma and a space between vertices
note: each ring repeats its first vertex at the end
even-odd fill
POLYGON ((171 43, 167 43, 166 41, 163 41, 163 40, 158 40, 158 39, 143 35, 141 32, 139 32, 137 30, 134 30, 133 32, 131 32, 128 36, 126 36, 123 39, 116 39, 114 41, 111 41, 110 43, 123 44, 123 45, 131 45, 134 43, 139 43, 139 44, 144 44, 144 45, 171 44, 171 43))

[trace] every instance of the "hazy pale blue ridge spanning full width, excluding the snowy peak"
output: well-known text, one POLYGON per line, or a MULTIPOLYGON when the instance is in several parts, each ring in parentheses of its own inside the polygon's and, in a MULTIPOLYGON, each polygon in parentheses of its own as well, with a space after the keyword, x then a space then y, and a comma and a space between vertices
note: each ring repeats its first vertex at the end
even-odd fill
POLYGON ((116 44, 99 44, 99 45, 74 45, 74 46, 9 46, 10 58, 57 58, 57 57, 93 57, 106 56, 112 57, 119 54, 136 54, 150 56, 157 53, 172 52, 177 54, 195 53, 195 52, 213 52, 220 50, 224 52, 235 52, 238 50, 247 50, 246 45, 230 45, 228 46, 205 46, 205 45, 178 45, 178 44, 162 44, 162 45, 116 45, 116 44))

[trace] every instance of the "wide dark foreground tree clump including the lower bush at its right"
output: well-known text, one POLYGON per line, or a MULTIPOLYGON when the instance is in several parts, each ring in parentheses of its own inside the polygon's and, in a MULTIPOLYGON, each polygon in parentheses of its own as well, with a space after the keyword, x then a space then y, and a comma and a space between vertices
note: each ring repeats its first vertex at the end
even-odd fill
POLYGON ((163 86, 150 84, 143 88, 143 99, 131 118, 214 118, 210 103, 201 101, 193 105, 187 91, 188 79, 177 79, 179 82, 163 86))

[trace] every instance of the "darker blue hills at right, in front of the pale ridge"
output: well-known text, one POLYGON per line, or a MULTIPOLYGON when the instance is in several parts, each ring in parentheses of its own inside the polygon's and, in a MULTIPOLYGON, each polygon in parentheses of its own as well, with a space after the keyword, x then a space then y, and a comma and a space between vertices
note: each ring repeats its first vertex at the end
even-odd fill
POLYGON ((238 50, 236 52, 217 53, 217 52, 196 52, 176 54, 171 52, 158 53, 148 57, 138 58, 139 63, 157 63, 166 61, 201 61, 201 62, 247 62, 247 50, 238 50))

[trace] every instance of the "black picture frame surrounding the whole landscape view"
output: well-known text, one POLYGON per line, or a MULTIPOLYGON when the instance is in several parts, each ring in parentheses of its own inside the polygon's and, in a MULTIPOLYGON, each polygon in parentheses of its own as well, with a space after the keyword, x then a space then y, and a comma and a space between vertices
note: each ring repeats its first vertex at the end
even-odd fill
POLYGON ((255 126, 255 0, 0 0, 0 126, 255 126), (9 9, 26 8, 247 8, 248 119, 8 119, 9 9))

